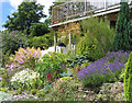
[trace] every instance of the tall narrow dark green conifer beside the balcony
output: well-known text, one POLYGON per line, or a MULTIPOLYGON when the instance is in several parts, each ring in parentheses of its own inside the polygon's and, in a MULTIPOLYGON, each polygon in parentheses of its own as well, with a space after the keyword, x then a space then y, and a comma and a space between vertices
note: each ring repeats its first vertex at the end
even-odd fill
POLYGON ((116 24, 114 50, 132 49, 132 26, 128 2, 121 2, 121 10, 116 24))

